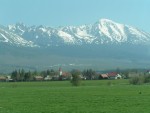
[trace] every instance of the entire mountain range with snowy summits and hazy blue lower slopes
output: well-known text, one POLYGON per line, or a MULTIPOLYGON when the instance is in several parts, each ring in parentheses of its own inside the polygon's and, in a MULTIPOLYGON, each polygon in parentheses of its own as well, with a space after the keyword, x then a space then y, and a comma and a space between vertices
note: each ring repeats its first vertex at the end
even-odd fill
POLYGON ((10 69, 58 65, 145 68, 149 64, 149 48, 149 33, 108 19, 57 28, 23 23, 0 25, 0 67, 10 69))

